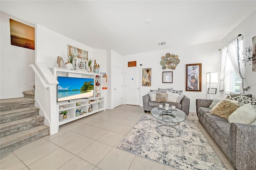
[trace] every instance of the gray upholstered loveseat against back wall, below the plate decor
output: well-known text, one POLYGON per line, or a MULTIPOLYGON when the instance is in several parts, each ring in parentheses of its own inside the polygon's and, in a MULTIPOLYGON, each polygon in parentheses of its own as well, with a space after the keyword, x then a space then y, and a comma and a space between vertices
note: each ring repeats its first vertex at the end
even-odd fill
POLYGON ((164 106, 164 104, 166 104, 166 103, 168 103, 170 106, 176 106, 176 108, 181 109, 182 111, 184 111, 186 113, 186 115, 188 115, 188 112, 189 112, 190 99, 186 96, 184 96, 184 98, 181 100, 180 103, 153 102, 153 101, 150 101, 150 96, 148 94, 146 94, 145 96, 142 96, 142 100, 143 100, 143 109, 144 109, 145 113, 147 111, 150 111, 154 107, 159 106, 160 104, 162 104, 164 106))

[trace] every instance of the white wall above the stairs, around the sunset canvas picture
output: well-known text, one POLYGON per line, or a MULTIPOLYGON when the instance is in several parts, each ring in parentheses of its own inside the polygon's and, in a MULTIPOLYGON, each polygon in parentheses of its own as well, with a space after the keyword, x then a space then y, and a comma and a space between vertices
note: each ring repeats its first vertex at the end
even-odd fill
POLYGON ((35 51, 11 45, 10 18, 34 27, 1 11, 1 99, 23 97, 23 91, 34 90, 34 72, 28 65, 34 64, 35 51))

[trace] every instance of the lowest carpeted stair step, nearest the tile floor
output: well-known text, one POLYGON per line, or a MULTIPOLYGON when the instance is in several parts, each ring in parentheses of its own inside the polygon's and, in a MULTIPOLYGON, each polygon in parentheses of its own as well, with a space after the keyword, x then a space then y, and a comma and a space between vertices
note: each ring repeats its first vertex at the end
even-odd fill
POLYGON ((32 129, 0 138, 0 154, 16 149, 49 135, 50 127, 40 125, 32 129))

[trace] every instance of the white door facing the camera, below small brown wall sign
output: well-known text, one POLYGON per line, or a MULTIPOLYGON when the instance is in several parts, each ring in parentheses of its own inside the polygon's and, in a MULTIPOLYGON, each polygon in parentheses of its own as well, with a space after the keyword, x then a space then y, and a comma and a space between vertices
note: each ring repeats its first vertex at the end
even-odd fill
POLYGON ((140 68, 126 68, 126 104, 140 105, 140 68))

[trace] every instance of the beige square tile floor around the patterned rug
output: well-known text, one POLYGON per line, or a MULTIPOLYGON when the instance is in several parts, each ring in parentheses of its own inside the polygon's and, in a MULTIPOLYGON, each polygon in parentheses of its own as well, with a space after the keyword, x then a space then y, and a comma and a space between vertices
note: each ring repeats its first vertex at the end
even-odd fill
MULTIPOLYGON (((122 105, 60 126, 59 132, 1 155, 1 170, 175 170, 170 166, 117 149, 144 114, 143 107, 122 105)), ((198 121, 206 139, 228 170, 234 170, 198 121)))

